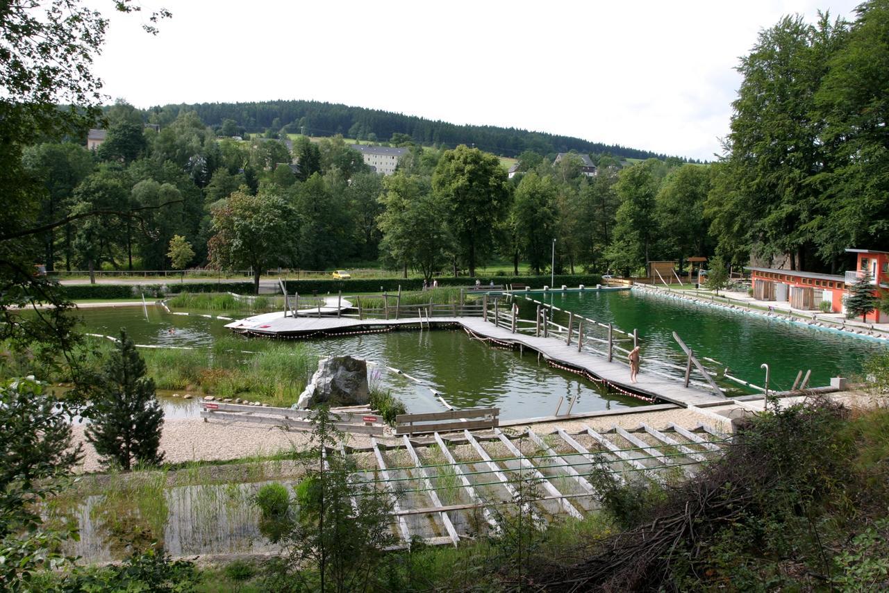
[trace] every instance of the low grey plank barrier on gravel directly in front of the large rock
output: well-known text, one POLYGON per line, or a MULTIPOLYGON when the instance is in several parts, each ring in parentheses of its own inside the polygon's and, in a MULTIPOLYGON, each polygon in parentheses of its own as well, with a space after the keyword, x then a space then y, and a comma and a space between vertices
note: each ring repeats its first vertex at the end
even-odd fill
MULTIPOLYGON (((201 402, 204 410, 201 417, 208 420, 226 420, 236 422, 253 422, 255 424, 271 424, 295 430, 312 430, 315 425, 308 421, 311 410, 292 410, 290 408, 273 408, 260 405, 228 404, 224 402, 201 402)), ((343 432, 362 435, 381 436, 384 432, 382 416, 375 413, 360 413, 332 410, 340 422, 334 426, 343 432)))

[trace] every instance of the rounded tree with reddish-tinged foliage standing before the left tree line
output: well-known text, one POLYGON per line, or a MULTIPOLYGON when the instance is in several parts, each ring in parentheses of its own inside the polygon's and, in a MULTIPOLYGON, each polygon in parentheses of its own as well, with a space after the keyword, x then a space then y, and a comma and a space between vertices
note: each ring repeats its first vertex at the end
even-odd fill
POLYGON ((292 256, 294 224, 292 207, 284 199, 236 191, 212 209, 211 263, 216 268, 252 268, 253 289, 259 293, 262 270, 292 256))

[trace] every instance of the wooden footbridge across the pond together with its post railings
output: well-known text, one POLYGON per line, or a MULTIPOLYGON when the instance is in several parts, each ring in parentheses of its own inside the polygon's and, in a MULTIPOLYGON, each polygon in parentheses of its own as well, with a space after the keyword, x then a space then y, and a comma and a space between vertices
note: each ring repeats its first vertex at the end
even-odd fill
POLYGON ((685 368, 643 356, 637 382, 632 383, 627 359, 629 349, 621 343, 637 342, 635 330, 623 332, 571 312, 567 312, 566 325, 560 325, 553 321, 553 312, 561 309, 532 302, 537 308, 534 320, 518 317, 517 302, 511 295, 485 295, 481 302, 459 304, 403 306, 396 301, 394 307, 389 307, 387 302, 382 309, 363 309, 360 301, 357 306, 351 303, 347 306, 340 297, 331 297, 316 309, 267 313, 237 320, 226 327, 244 335, 290 340, 390 332, 399 328, 459 327, 473 338, 496 346, 536 351, 550 365, 579 373, 629 396, 683 406, 726 401, 713 381, 713 373, 699 363, 678 336, 677 342, 687 355, 685 368), (670 370, 674 374, 670 374, 670 370))

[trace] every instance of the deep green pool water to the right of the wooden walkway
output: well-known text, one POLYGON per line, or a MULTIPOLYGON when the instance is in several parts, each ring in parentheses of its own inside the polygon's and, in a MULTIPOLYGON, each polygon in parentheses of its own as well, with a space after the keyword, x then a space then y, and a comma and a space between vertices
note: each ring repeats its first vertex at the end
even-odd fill
MULTIPOLYGON (((831 377, 861 373, 868 357, 887 348, 885 342, 873 339, 637 291, 530 296, 627 332, 637 328, 643 369, 646 363, 658 366, 657 361, 685 367, 685 356, 673 339, 672 333, 676 332, 711 370, 721 372, 727 367, 733 376, 762 386, 765 371, 760 365, 768 364, 770 389, 790 389, 797 372, 810 369, 810 386, 828 385, 831 377)), ((533 319, 536 305, 524 297, 518 302, 521 317, 533 319)), ((557 312, 555 320, 565 325, 567 314, 557 312)), ((669 367, 659 370, 677 376, 683 373, 669 367)), ((738 388, 731 382, 718 382, 725 388, 738 388)))

